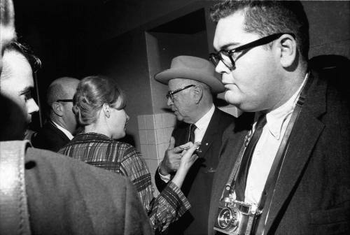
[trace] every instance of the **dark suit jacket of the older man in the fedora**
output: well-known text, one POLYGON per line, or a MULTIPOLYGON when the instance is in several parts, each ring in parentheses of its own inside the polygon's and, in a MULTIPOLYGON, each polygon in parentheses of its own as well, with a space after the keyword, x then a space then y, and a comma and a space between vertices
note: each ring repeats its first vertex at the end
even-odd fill
MULTIPOLYGON (((205 132, 198 154, 200 157, 191 167, 183 182, 181 190, 188 197, 191 208, 178 222, 174 222, 169 228, 170 234, 206 234, 209 211, 211 183, 218 165, 218 153, 221 147, 223 131, 235 118, 218 108, 215 108, 207 131, 205 132)), ((175 146, 187 143, 189 124, 182 122, 174 129, 175 146)), ((165 187, 158 172, 155 174, 155 182, 158 190, 165 187)))

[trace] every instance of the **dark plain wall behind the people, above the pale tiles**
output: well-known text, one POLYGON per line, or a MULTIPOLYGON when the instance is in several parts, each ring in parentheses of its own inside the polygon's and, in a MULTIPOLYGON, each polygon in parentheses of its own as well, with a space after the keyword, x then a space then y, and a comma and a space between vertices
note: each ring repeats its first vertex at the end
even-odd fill
MULTIPOLYGON (((183 50, 187 45, 181 45, 181 42, 188 43, 186 37, 201 41, 193 53, 207 57, 207 52, 212 50, 215 31, 208 14, 212 2, 14 0, 20 41, 31 45, 43 61, 43 69, 38 72, 42 101, 49 83, 60 76, 111 75, 127 93, 126 111, 132 118, 128 129, 135 136, 137 115, 158 113, 165 104, 164 92, 167 90, 153 81, 157 68, 149 63, 145 32, 204 7, 206 30, 178 35, 179 40, 158 35, 158 56, 167 58, 160 61, 159 68, 166 69, 170 57, 176 53, 191 53, 191 50, 183 50), (205 34, 207 41, 203 40, 205 34)), ((303 5, 310 22, 310 56, 337 54, 350 57, 350 1, 303 1, 303 5)), ((188 27, 188 24, 180 27, 188 27)))

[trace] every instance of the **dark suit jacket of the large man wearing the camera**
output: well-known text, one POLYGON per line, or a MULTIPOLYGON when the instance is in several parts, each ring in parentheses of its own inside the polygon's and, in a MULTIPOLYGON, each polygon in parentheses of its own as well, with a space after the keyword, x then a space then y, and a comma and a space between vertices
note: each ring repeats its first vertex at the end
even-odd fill
MULTIPOLYGON (((349 89, 337 79, 312 73, 307 99, 290 134, 277 180, 265 234, 349 234, 350 108, 349 89), (343 90, 343 91, 341 91, 343 90)), ((330 76, 330 74, 328 74, 330 76)), ((342 77, 343 80, 349 77, 342 77)), ((213 234, 218 201, 249 125, 239 117, 223 136, 214 178, 208 234, 213 234)))

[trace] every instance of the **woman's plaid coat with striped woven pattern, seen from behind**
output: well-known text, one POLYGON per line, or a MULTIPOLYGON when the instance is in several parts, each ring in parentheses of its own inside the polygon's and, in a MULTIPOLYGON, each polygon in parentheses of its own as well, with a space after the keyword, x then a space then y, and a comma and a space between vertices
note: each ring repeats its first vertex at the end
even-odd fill
POLYGON ((59 153, 130 178, 156 231, 165 231, 190 208, 183 192, 174 183, 168 184, 157 198, 153 197, 151 173, 140 152, 132 145, 103 134, 81 133, 59 153))

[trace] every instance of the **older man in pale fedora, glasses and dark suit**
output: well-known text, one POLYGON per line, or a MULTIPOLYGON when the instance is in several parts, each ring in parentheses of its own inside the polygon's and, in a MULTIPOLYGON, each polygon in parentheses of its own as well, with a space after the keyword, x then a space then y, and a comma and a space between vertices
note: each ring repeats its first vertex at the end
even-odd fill
POLYGON ((206 234, 211 183, 218 164, 221 136, 234 117, 213 104, 213 94, 225 90, 215 76, 214 66, 206 59, 181 55, 172 59, 170 69, 155 75, 155 80, 168 85, 167 105, 180 122, 172 133, 170 145, 155 174, 162 190, 179 166, 181 148, 188 141, 202 142, 181 187, 191 209, 169 228, 169 234, 206 234))

